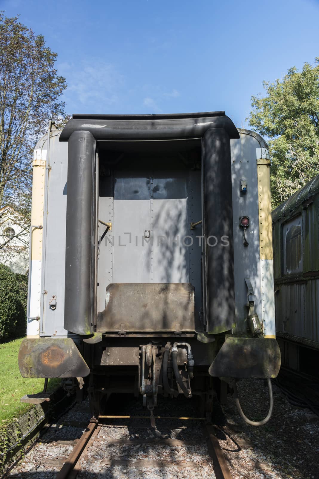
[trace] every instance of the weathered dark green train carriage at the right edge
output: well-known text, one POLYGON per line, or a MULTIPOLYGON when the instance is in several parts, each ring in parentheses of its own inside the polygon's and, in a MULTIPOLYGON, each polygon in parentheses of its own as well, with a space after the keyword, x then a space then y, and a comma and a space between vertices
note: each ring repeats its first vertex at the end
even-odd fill
POLYGON ((282 365, 318 377, 319 175, 278 206, 272 222, 282 365))

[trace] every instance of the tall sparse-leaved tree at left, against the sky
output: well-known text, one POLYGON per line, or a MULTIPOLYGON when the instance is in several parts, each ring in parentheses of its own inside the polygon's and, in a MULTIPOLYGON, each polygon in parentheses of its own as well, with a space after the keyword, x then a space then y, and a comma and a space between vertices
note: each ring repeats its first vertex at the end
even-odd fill
POLYGON ((49 120, 61 123, 65 115, 60 96, 66 82, 54 68, 56 58, 43 35, 0 12, 0 212, 10 206, 26 228, 34 146, 49 120))

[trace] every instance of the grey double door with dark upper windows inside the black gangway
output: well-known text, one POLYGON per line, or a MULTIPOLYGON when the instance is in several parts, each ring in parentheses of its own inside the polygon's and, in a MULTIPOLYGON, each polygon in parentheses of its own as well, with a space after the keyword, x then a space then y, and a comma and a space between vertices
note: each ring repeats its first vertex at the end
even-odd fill
POLYGON ((189 282, 188 171, 114 171, 113 225, 113 283, 189 282))

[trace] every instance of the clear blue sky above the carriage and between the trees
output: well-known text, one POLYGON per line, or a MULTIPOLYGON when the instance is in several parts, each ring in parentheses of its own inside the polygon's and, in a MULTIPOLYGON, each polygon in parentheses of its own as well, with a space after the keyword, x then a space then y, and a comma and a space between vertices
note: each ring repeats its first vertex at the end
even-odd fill
POLYGON ((67 113, 225 110, 319 56, 318 0, 0 0, 58 53, 67 113))

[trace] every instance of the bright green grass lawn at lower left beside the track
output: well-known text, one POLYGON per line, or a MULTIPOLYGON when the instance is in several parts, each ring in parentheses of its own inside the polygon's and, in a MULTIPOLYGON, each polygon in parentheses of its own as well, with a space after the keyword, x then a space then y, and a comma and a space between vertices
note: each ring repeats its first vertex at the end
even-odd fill
MULTIPOLYGON (((43 390, 44 379, 25 379, 20 374, 18 352, 22 339, 0 343, 0 424, 28 407, 20 402, 22 396, 43 390)), ((49 379, 48 391, 57 388, 60 382, 61 379, 49 379)))

